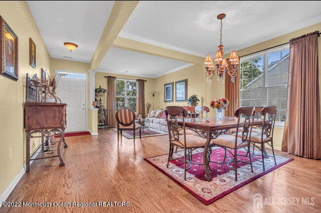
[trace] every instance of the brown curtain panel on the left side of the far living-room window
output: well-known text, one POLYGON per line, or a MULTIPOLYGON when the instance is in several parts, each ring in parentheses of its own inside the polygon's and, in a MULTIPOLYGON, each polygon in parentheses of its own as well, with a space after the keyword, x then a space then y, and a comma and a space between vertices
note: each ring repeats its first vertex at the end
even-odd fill
POLYGON ((116 77, 107 76, 107 126, 116 125, 116 77))

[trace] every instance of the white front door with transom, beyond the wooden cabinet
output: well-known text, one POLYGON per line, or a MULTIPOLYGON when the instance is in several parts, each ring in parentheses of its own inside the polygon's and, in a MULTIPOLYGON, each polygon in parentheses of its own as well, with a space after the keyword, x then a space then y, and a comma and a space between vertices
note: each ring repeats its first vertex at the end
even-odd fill
POLYGON ((57 95, 68 104, 65 131, 86 131, 86 75, 66 72, 57 75, 57 95))

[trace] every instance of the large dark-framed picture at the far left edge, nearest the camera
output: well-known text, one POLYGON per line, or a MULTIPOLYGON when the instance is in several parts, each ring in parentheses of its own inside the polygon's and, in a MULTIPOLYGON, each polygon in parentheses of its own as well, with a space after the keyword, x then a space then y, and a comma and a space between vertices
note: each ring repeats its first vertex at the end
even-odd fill
POLYGON ((0 72, 13 80, 18 80, 18 36, 0 16, 0 72))

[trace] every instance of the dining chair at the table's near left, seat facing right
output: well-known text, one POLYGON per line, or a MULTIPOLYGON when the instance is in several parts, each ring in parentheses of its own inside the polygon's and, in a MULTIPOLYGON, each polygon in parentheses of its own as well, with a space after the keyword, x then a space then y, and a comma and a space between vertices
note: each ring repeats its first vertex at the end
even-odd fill
MULTIPOLYGON (((188 115, 186 108, 182 106, 167 106, 165 108, 167 126, 169 129, 170 138, 170 150, 169 158, 167 161, 167 167, 169 166, 170 160, 183 160, 184 161, 184 180, 186 180, 186 170, 192 167, 192 164, 201 164, 192 161, 192 152, 197 148, 205 148, 206 139, 200 136, 186 134, 185 119, 188 115), (183 124, 179 124, 178 119, 182 120, 183 124), (183 134, 180 134, 180 130, 183 129, 183 134), (174 158, 174 148, 179 147, 184 149, 184 158, 174 158), (187 158, 190 164, 187 168, 187 158)), ((211 142, 212 144, 212 142, 211 142)), ((210 146, 211 147, 211 146, 210 146)))

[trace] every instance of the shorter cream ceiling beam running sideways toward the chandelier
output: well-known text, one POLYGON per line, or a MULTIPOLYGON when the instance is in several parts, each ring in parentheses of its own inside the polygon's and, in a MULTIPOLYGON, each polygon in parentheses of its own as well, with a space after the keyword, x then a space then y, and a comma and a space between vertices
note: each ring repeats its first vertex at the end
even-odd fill
POLYGON ((200 64, 204 62, 204 58, 164 47, 159 47, 155 45, 151 45, 148 43, 143 43, 140 41, 124 38, 124 37, 117 37, 112 47, 127 49, 135 52, 140 52, 144 54, 151 54, 160 57, 166 57, 174 60, 181 60, 188 63, 200 64))

